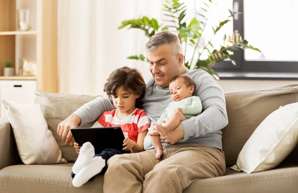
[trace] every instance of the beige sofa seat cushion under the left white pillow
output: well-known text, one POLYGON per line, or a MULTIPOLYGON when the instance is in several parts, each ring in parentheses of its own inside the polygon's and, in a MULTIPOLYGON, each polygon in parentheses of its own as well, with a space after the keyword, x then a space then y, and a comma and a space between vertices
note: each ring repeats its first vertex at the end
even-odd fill
POLYGON ((72 163, 8 166, 0 170, 0 193, 103 193, 103 175, 75 188, 72 167, 72 163))

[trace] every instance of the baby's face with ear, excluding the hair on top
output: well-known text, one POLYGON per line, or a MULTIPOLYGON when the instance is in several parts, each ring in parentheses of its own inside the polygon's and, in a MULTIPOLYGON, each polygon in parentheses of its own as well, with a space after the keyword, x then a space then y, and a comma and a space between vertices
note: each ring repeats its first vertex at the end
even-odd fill
POLYGON ((194 92, 194 86, 187 87, 183 78, 179 77, 169 85, 172 101, 180 101, 191 97, 194 92))

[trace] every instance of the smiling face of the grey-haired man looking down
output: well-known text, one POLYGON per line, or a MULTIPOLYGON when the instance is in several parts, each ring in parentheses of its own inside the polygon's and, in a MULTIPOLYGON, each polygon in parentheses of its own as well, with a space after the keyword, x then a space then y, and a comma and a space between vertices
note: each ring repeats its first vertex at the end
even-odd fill
MULTIPOLYGON (((168 87, 171 79, 181 73, 183 55, 173 54, 171 45, 161 45, 156 50, 148 52, 149 70, 157 86, 168 87)), ((184 71, 182 72, 184 73, 184 71)))

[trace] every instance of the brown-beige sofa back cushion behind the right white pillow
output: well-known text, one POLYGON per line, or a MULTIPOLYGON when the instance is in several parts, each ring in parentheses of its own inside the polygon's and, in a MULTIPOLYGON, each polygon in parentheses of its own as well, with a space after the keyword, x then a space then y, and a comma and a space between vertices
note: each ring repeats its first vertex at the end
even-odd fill
MULTIPOLYGON (((226 166, 236 163, 245 142, 260 123, 280 106, 298 102, 298 85, 225 94, 228 125, 223 129, 226 166)), ((298 161, 298 148, 289 155, 298 161)), ((287 160, 287 159, 286 159, 287 160)))

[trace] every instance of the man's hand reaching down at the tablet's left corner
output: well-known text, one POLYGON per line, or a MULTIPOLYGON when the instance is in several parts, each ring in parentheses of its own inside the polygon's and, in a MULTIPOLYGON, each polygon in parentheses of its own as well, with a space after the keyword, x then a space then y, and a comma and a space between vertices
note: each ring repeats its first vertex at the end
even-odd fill
POLYGON ((72 146, 74 137, 71 129, 77 128, 80 123, 81 119, 78 116, 71 115, 58 125, 57 133, 65 143, 69 143, 72 146))

